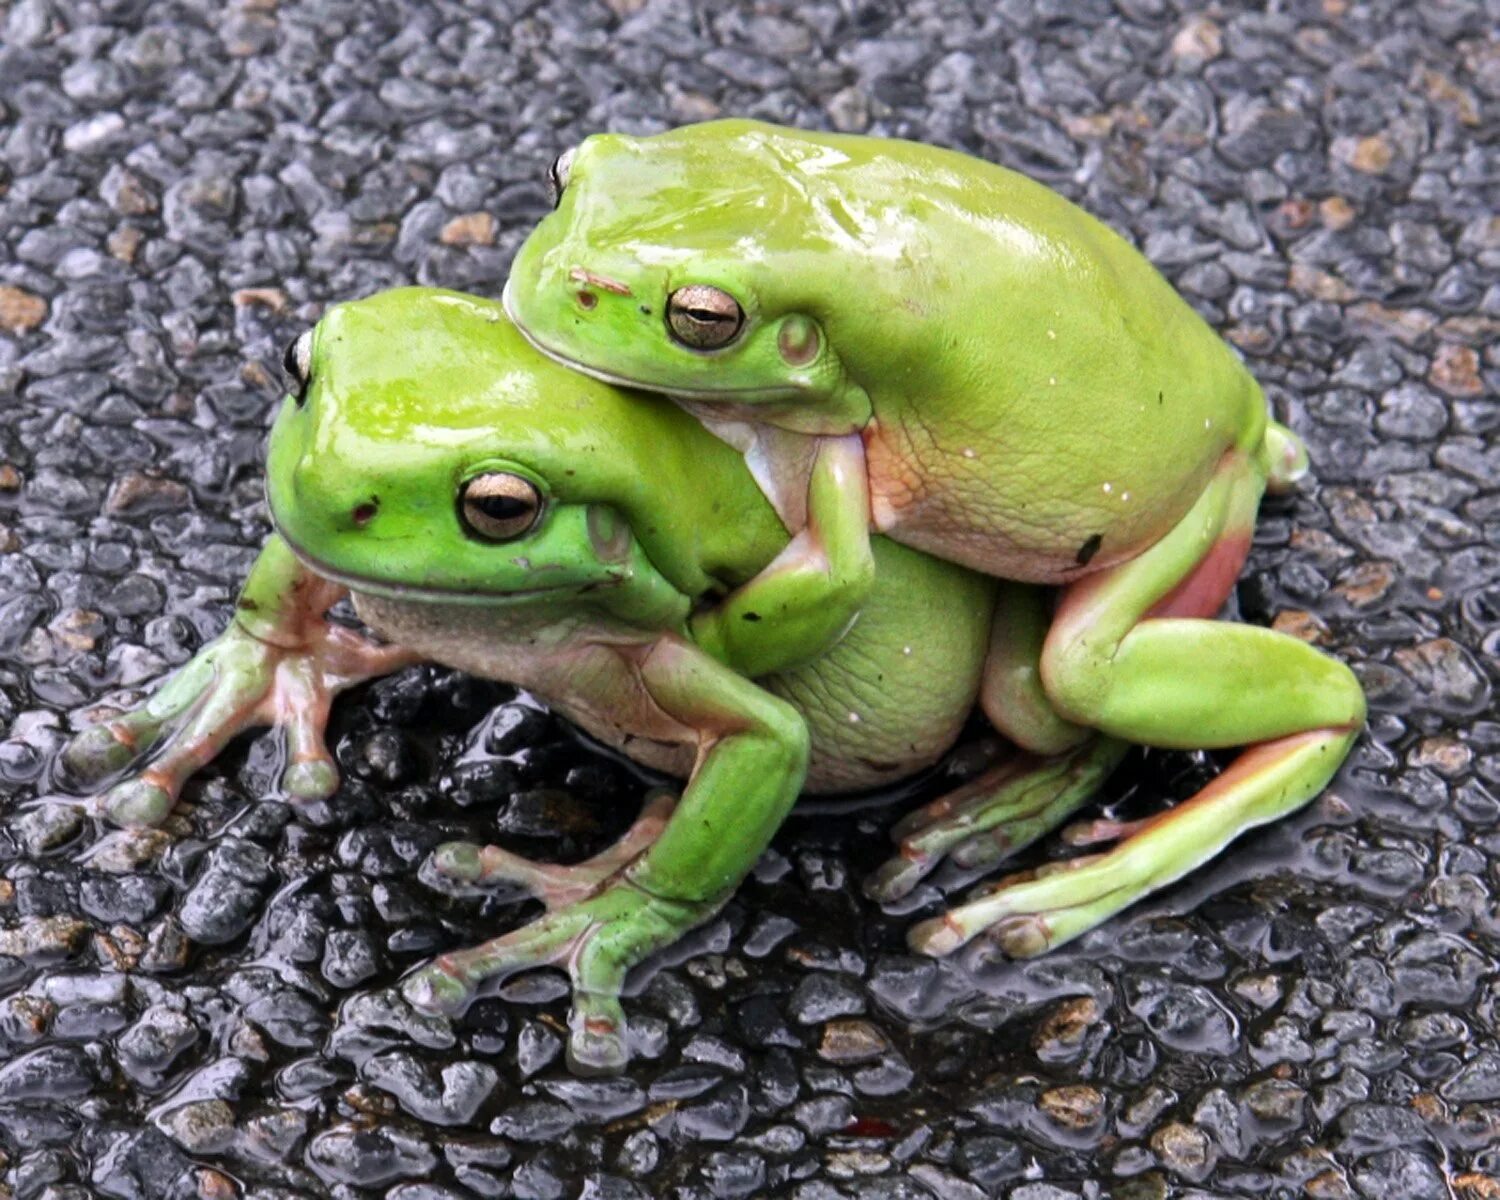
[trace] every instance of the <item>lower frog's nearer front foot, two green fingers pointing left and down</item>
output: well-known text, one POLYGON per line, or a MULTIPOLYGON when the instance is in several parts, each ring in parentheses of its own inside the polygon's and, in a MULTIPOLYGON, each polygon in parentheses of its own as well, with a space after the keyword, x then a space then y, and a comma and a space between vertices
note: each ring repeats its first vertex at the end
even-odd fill
POLYGON ((420 1012, 454 1016, 483 984, 556 966, 573 982, 568 1065, 578 1074, 620 1071, 630 1058, 620 992, 626 974, 712 916, 723 900, 669 900, 618 873, 602 891, 554 908, 504 938, 444 954, 408 975, 402 994, 420 1012))

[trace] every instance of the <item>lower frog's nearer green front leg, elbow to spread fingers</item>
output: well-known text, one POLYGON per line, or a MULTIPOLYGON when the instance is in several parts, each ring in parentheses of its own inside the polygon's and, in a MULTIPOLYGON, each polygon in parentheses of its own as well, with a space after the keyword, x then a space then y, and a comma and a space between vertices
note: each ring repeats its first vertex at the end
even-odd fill
MULTIPOLYGON (((543 896, 550 891, 549 912, 474 950, 444 954, 404 984, 418 1010, 458 1012, 486 981, 561 966, 573 981, 568 1060, 585 1072, 624 1065, 626 972, 723 906, 796 800, 808 754, 807 724, 790 705, 696 646, 668 636, 620 646, 616 654, 624 668, 612 684, 618 710, 634 710, 644 735, 696 747, 681 801, 658 832, 650 828, 648 812, 648 826, 636 826, 636 843, 650 846, 604 860, 612 870, 598 870, 602 860, 594 860, 580 864, 582 873, 560 876, 492 855, 501 878, 526 882, 543 896), (568 898, 579 884, 588 894, 568 898)), ((608 699, 594 696, 591 704, 608 699)), ((483 876, 483 852, 477 861, 450 866, 483 876)))

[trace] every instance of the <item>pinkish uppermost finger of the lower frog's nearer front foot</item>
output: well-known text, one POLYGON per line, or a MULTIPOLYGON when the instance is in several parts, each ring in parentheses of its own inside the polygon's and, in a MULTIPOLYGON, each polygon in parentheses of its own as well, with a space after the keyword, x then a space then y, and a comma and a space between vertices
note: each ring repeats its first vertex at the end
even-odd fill
POLYGON ((670 792, 652 792, 620 842, 570 867, 534 862, 501 846, 447 842, 432 852, 422 873, 426 882, 447 892, 484 891, 512 884, 528 891, 550 912, 600 891, 654 846, 675 807, 676 796, 670 792))

